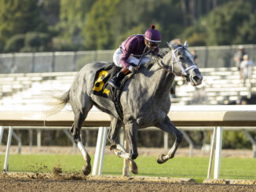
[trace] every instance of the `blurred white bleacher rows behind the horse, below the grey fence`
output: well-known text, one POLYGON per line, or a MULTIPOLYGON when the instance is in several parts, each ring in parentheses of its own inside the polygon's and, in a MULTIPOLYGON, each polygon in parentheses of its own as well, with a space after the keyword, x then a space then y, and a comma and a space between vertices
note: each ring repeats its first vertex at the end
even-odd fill
MULTIPOLYGON (((182 78, 175 78, 174 105, 188 104, 236 104, 241 97, 256 94, 256 67, 246 86, 240 80, 236 67, 201 68, 203 85, 192 87, 182 78)), ((0 74, 0 107, 42 107, 44 91, 67 91, 76 72, 51 72, 27 74, 0 74)), ((40 109, 40 108, 39 108, 40 109)))

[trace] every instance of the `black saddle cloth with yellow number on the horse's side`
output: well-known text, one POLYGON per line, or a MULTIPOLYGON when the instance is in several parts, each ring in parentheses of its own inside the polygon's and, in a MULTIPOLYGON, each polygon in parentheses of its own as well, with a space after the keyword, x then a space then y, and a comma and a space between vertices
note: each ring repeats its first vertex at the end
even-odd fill
POLYGON ((122 92, 123 85, 125 85, 127 79, 130 77, 126 75, 126 77, 123 78, 122 82, 120 82, 120 89, 115 89, 112 85, 108 85, 108 80, 114 77, 121 69, 122 67, 118 67, 114 63, 99 69, 93 81, 93 94, 112 100, 115 104, 115 110, 119 114, 119 118, 123 120, 123 107, 120 104, 120 93, 122 92))

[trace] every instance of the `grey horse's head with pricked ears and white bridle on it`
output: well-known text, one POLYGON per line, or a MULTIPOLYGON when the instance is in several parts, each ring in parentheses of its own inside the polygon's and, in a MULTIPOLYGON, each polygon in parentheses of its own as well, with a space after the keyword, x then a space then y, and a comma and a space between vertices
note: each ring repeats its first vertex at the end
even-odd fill
POLYGON ((194 56, 187 49, 188 42, 184 45, 167 44, 170 52, 164 56, 163 60, 166 59, 166 62, 163 63, 169 65, 174 74, 185 77, 193 86, 201 85, 203 75, 194 62, 194 56))

